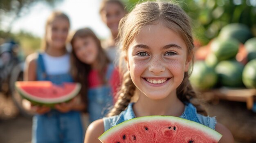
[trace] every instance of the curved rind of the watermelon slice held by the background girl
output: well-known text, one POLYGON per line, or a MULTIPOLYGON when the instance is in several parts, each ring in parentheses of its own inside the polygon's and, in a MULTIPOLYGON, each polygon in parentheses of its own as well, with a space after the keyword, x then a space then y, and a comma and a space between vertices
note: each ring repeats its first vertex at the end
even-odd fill
POLYGON ((79 93, 79 91, 81 89, 81 84, 79 84, 79 83, 75 83, 75 84, 76 84, 76 87, 72 92, 70 92, 68 95, 65 95, 63 97, 58 97, 55 99, 34 97, 33 95, 30 95, 29 93, 27 93, 27 92, 23 91, 21 88, 19 88, 18 82, 15 83, 15 88, 21 97, 27 99, 28 101, 31 101, 31 103, 33 105, 44 105, 44 106, 53 107, 55 104, 70 101, 72 98, 74 98, 79 93))

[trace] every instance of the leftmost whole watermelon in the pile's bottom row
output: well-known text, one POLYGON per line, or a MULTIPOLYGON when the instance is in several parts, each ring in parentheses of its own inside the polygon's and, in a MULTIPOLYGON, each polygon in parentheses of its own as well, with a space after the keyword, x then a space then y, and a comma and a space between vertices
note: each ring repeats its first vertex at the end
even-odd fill
POLYGON ((216 84, 218 76, 214 68, 207 66, 204 61, 198 61, 193 66, 189 80, 193 87, 199 90, 207 90, 216 84))

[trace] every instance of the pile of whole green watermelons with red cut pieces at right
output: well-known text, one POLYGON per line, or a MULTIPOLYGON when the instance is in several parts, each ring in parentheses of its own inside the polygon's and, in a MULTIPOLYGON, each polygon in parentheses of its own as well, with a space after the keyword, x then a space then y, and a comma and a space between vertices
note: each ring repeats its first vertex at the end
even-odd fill
POLYGON ((224 26, 195 58, 190 81, 199 90, 256 88, 256 37, 244 24, 224 26))

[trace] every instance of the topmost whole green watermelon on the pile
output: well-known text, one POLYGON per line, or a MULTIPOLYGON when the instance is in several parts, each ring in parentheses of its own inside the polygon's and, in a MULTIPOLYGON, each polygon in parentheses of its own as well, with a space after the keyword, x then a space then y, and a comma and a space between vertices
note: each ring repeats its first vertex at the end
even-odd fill
POLYGON ((234 38, 241 43, 245 43, 248 39, 252 37, 252 33, 248 26, 241 23, 231 23, 227 24, 220 30, 220 38, 234 38))

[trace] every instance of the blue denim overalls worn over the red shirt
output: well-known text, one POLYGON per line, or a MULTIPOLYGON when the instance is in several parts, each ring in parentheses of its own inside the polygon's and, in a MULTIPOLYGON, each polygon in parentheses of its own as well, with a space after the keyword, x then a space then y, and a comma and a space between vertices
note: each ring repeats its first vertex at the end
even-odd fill
MULTIPOLYGON (((110 81, 114 70, 112 64, 108 65, 106 72, 106 81, 110 81)), ((103 118, 113 105, 112 89, 106 84, 96 88, 90 88, 88 91, 88 111, 90 123, 103 118)))

